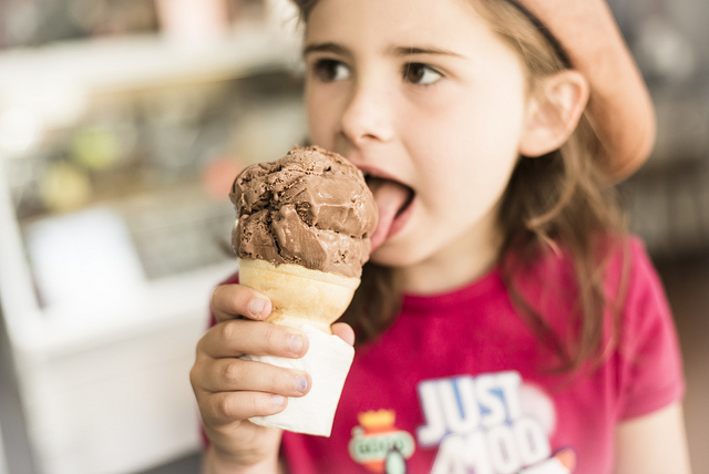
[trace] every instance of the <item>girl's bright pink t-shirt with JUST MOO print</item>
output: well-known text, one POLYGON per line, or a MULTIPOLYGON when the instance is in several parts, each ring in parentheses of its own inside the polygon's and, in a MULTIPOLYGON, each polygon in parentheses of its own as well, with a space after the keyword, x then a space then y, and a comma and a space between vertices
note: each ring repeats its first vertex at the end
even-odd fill
MULTIPOLYGON (((643 245, 629 244, 620 343, 600 368, 546 370, 554 357, 497 270, 446 295, 407 296, 394 324, 357 349, 331 437, 284 434, 290 473, 612 473, 616 424, 684 394, 664 290, 643 245)), ((610 293, 620 268, 610 265, 610 293)), ((574 310, 572 279, 561 257, 520 275, 559 333, 574 310)))

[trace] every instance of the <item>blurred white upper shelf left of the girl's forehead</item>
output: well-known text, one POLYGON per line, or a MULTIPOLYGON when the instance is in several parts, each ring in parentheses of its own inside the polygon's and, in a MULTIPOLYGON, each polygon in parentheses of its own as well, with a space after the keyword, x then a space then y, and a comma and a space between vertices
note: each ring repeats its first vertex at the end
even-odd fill
POLYGON ((8 50, 0 52, 0 111, 66 126, 97 95, 294 69, 299 48, 295 34, 245 25, 203 44, 136 35, 8 50))

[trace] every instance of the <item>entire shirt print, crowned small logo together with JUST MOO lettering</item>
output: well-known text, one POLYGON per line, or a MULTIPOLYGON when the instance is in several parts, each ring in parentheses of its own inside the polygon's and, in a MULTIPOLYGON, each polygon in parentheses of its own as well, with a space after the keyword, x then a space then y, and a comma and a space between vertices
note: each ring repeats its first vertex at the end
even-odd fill
POLYGON ((552 453, 553 401, 517 372, 424 380, 418 385, 424 423, 415 440, 395 427, 393 410, 358 415, 349 452, 368 471, 405 474, 417 447, 435 449, 431 474, 573 474, 576 452, 552 453))

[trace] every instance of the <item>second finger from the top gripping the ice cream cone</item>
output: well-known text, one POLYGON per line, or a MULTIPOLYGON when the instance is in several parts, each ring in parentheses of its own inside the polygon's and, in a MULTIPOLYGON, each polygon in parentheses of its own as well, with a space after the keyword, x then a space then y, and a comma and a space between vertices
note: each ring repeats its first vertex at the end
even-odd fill
POLYGON ((244 354, 298 359, 308 347, 308 337, 300 329, 232 319, 209 329, 197 343, 197 352, 214 359, 244 354))

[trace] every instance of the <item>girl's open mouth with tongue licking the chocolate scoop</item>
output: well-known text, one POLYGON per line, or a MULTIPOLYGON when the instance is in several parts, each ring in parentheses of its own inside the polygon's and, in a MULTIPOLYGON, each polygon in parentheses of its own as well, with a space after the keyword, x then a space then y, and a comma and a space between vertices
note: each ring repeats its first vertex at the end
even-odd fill
POLYGON ((415 193, 402 183, 373 175, 364 175, 379 210, 379 223, 371 236, 372 250, 400 230, 413 203, 415 193))

